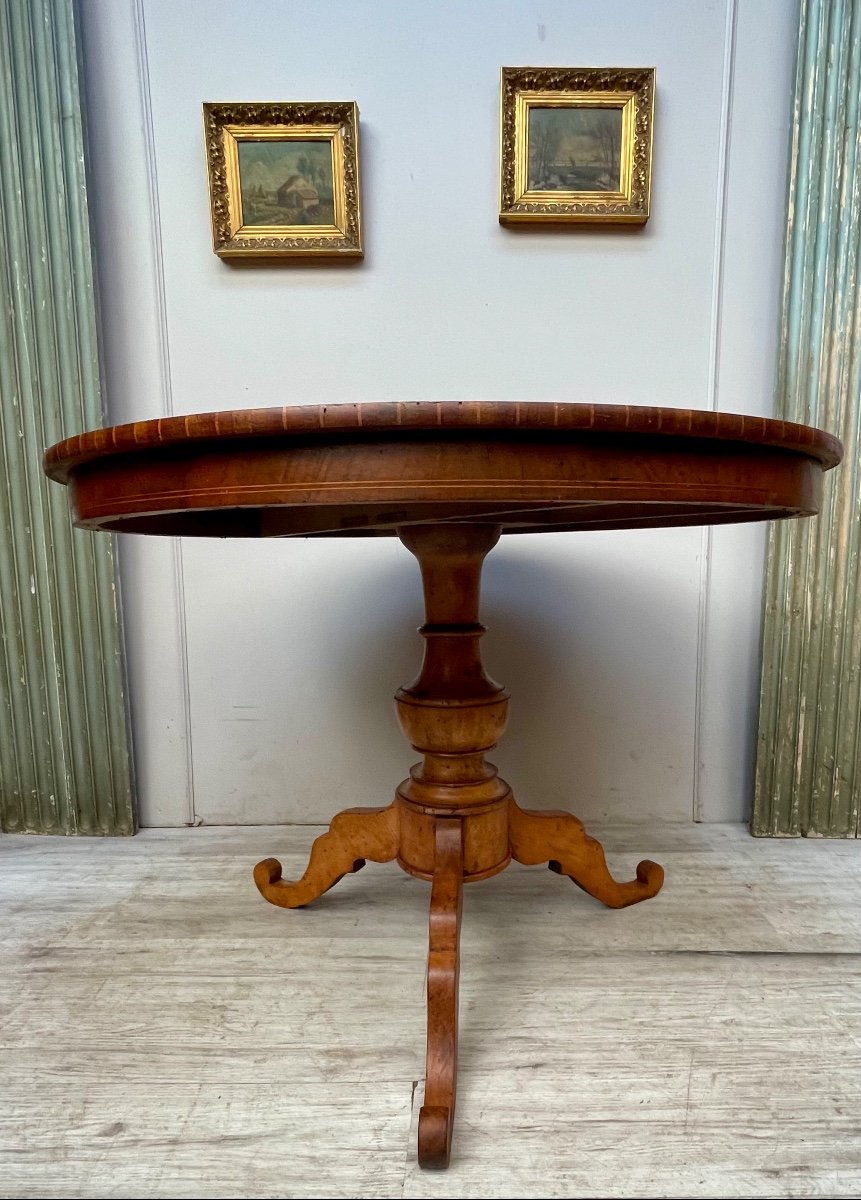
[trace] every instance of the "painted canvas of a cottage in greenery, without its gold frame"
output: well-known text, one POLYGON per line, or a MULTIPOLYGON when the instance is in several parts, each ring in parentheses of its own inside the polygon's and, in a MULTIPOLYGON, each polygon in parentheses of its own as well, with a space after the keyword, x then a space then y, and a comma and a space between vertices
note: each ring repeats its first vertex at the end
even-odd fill
POLYGON ((335 223, 332 143, 239 142, 242 224, 335 223))

